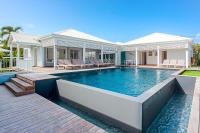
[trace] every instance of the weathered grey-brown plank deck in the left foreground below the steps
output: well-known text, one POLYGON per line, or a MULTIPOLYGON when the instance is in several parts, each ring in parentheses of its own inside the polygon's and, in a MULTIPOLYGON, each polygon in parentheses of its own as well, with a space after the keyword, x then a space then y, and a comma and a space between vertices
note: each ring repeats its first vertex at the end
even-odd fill
POLYGON ((38 94, 15 97, 0 85, 0 132, 103 133, 103 129, 38 94))

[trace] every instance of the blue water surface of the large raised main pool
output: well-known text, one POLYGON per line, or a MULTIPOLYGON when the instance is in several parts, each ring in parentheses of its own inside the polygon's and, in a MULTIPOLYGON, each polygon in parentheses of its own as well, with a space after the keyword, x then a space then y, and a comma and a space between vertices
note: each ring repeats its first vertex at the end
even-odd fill
POLYGON ((161 69, 118 68, 68 73, 63 76, 63 79, 125 95, 138 96, 169 78, 174 72, 161 69))

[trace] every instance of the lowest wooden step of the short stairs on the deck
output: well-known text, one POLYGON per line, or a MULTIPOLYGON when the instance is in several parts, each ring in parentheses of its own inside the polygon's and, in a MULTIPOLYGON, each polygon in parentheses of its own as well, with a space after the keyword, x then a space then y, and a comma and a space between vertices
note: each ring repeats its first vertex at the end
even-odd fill
POLYGON ((35 89, 32 90, 23 90, 22 88, 18 87, 12 82, 6 82, 6 87, 15 95, 15 96, 22 96, 27 94, 32 94, 35 92, 35 89))

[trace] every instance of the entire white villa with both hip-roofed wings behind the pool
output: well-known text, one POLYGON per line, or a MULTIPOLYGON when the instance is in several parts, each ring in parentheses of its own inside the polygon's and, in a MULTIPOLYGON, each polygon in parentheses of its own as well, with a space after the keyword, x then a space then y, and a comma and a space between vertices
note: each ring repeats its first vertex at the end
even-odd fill
POLYGON ((59 59, 81 59, 86 64, 91 59, 97 59, 115 65, 174 65, 188 68, 193 55, 192 39, 163 33, 153 33, 121 44, 74 29, 45 36, 12 33, 9 44, 11 59, 13 47, 18 51, 20 48, 24 50, 24 57, 17 57, 16 67, 21 69, 27 65, 56 68, 59 59))

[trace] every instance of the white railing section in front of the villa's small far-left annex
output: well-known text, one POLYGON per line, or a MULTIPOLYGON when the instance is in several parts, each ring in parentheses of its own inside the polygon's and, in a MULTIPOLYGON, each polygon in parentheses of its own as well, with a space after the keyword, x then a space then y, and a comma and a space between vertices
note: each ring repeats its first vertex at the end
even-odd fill
POLYGON ((32 59, 19 59, 16 67, 21 70, 32 71, 32 59))

